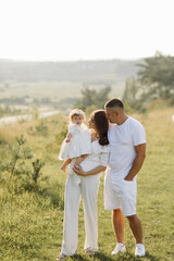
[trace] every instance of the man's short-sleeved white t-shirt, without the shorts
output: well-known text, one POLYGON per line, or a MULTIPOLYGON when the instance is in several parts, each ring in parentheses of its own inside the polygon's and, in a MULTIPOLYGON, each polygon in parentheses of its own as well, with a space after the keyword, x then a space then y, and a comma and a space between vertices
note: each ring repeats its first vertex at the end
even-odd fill
POLYGON ((135 146, 146 144, 146 133, 140 122, 133 117, 121 124, 110 124, 110 158, 107 175, 112 182, 127 176, 136 158, 135 146))

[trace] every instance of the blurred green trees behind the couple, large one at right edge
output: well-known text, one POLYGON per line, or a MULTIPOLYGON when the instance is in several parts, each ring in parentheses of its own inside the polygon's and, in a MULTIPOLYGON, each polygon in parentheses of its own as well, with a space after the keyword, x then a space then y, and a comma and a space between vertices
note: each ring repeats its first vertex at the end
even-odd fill
MULTIPOLYGON (((126 79, 123 101, 132 109, 144 111, 146 104, 154 99, 167 100, 174 105, 174 57, 157 52, 138 63, 137 75, 126 79)), ((86 110, 92 107, 103 108, 109 100, 110 86, 95 90, 86 86, 82 90, 82 99, 75 107, 86 110)))

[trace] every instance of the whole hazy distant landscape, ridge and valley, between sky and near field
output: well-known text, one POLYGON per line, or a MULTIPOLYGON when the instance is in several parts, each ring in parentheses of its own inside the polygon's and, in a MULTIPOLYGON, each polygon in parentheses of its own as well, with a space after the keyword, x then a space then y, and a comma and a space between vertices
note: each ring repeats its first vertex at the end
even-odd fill
MULTIPOLYGON (((139 61, 16 62, 0 60, 0 107, 73 108, 84 86, 110 86, 110 97, 122 97, 125 79, 139 61)), ((14 111, 14 109, 11 109, 14 111)), ((4 113, 3 113, 4 114, 4 113)))

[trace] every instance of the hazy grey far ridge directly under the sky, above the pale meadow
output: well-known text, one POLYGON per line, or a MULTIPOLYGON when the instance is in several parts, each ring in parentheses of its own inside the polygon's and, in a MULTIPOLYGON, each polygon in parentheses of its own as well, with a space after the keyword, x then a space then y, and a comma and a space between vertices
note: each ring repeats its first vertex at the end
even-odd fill
POLYGON ((113 84, 137 72, 139 61, 16 62, 0 60, 0 82, 113 84))

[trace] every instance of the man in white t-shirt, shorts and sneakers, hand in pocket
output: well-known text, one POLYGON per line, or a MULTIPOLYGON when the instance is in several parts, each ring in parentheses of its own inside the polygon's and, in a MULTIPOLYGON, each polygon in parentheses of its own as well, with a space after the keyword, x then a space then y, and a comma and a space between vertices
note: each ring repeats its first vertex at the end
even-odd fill
POLYGON ((135 237, 135 256, 144 257, 142 228, 136 214, 136 176, 146 158, 146 134, 142 125, 124 112, 123 102, 111 99, 105 103, 110 121, 110 159, 104 181, 104 208, 112 210, 117 245, 112 254, 126 250, 123 243, 124 216, 135 237))

